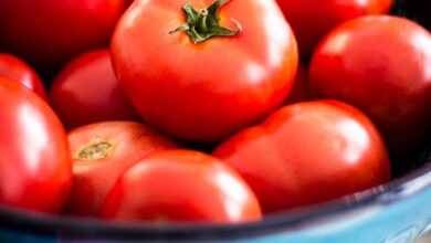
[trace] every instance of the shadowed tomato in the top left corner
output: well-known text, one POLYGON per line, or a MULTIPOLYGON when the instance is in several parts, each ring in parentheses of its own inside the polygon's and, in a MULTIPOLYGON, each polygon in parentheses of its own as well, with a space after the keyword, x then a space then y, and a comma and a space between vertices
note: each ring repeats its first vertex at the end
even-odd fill
POLYGON ((124 0, 1 0, 0 46, 38 68, 106 46, 124 0))

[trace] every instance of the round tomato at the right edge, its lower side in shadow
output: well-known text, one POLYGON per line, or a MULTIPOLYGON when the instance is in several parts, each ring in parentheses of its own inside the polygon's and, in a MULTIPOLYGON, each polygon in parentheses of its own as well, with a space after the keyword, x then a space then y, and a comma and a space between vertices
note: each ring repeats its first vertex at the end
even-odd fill
POLYGON ((309 72, 314 93, 362 109, 393 152, 408 152, 425 139, 431 35, 420 25, 397 17, 346 22, 322 42, 309 72))

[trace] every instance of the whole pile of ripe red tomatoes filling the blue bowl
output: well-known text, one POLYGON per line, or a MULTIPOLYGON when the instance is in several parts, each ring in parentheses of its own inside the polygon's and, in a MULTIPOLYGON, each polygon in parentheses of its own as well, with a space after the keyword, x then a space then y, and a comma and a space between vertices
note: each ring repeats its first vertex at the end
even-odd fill
POLYGON ((238 223, 388 182, 431 129, 392 3, 1 0, 0 204, 238 223))

